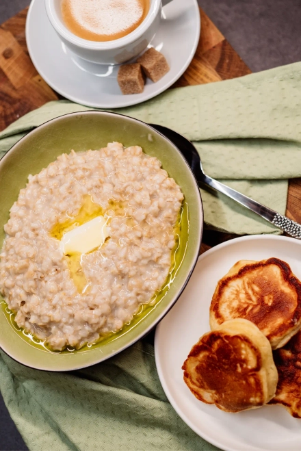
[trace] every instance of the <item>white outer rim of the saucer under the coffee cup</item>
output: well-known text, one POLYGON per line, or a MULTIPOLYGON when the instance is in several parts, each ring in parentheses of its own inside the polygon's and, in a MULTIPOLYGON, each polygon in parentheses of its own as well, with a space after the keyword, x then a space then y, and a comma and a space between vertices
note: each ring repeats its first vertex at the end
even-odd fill
MULTIPOLYGON (((46 83, 55 92, 64 96, 66 99, 68 99, 70 101, 79 103, 79 105, 85 105, 87 107, 125 108, 125 107, 129 107, 129 106, 133 106, 133 105, 138 105, 139 103, 143 103, 145 101, 153 99, 154 97, 158 96, 159 94, 161 94, 162 92, 164 92, 168 88, 170 88, 170 86, 172 86, 172 84, 175 83, 176 80, 178 80, 181 77, 181 75, 183 75, 183 73, 185 72, 185 70, 187 69, 187 67, 189 66, 189 64, 192 62, 192 60, 194 58, 196 49, 198 47, 198 42, 200 40, 200 28, 201 28, 200 10, 198 7, 197 0, 190 0, 194 4, 194 8, 196 8, 196 10, 198 11, 198 14, 196 14, 196 35, 194 36, 194 45, 192 46, 192 49, 190 49, 189 56, 187 56, 186 63, 182 66, 181 70, 179 70, 179 72, 176 73, 176 75, 174 75, 174 77, 172 77, 170 79, 170 81, 168 81, 168 83, 165 83, 165 85, 163 87, 159 88, 158 90, 155 90, 154 92, 151 92, 148 95, 143 96, 143 92, 142 92, 142 96, 139 99, 134 99, 132 101, 130 101, 130 100, 127 101, 126 96, 122 96, 122 94, 120 94, 120 97, 121 96, 125 97, 125 100, 122 102, 121 101, 116 102, 114 105, 108 104, 108 103, 94 103, 94 102, 86 103, 86 101, 84 99, 79 99, 78 96, 73 96, 73 95, 66 96, 66 92, 63 92, 62 90, 60 90, 60 87, 55 86, 55 84, 52 83, 51 79, 49 79, 48 75, 44 74, 44 71, 41 70, 40 64, 38 64, 38 61, 36 60, 36 57, 34 56, 34 51, 31 48, 31 37, 30 37, 30 34, 31 34, 30 28, 31 27, 29 25, 29 22, 31 21, 32 10, 35 8, 35 5, 38 4, 38 1, 43 1, 43 0, 31 0, 31 3, 29 5, 29 10, 27 12, 26 25, 25 25, 25 38, 26 38, 27 49, 28 49, 29 56, 31 58, 31 62, 32 62, 32 64, 34 64, 34 67, 36 68, 36 70, 38 71, 40 76, 44 79, 44 81, 46 81, 46 83)), ((47 16, 46 11, 45 11, 45 15, 47 16)), ((47 20, 48 20, 48 18, 47 18, 47 20)), ((53 33, 55 33, 54 29, 53 29, 53 33)), ((150 42, 150 44, 151 44, 151 42, 150 42)), ((138 95, 140 96, 140 94, 138 94, 138 95)))

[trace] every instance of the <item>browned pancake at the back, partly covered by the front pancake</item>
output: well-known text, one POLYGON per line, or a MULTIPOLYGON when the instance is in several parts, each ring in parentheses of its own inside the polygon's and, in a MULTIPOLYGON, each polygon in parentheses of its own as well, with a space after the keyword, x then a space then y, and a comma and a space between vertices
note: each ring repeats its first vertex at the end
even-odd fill
POLYGON ((211 330, 233 318, 254 322, 272 349, 300 330, 301 283, 285 261, 241 260, 220 279, 211 300, 211 330))

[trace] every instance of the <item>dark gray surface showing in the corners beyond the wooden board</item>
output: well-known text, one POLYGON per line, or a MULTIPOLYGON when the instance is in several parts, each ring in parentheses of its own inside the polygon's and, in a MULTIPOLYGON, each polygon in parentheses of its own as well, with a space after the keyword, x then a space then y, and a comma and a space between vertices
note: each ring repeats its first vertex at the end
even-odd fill
MULTIPOLYGON (((28 3, 29 0, 0 0, 0 23, 28 3)), ((198 3, 254 72, 301 59, 301 0, 198 3)), ((0 451, 26 450, 0 396, 0 451)))

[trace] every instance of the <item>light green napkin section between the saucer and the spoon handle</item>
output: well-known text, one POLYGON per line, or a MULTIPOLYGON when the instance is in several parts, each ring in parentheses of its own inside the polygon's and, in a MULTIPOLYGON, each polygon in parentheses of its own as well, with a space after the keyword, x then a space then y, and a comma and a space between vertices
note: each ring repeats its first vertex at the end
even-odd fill
MULTIPOLYGON (((196 145, 205 172, 285 214, 288 179, 301 175, 301 64, 206 85, 167 90, 116 110, 165 125, 196 145)), ((91 109, 53 101, 0 133, 0 157, 34 127, 62 114, 91 109)), ((201 190, 208 227, 237 233, 280 233, 223 194, 201 190)))

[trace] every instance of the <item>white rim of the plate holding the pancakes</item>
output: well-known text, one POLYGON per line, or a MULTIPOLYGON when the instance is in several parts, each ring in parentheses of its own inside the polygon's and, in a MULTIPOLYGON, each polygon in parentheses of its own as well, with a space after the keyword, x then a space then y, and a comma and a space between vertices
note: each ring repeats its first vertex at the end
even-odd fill
MULTIPOLYGON (((233 238, 231 240, 228 240, 226 242, 220 243, 217 246, 214 246, 213 248, 206 250, 204 253, 202 253, 202 255, 200 255, 198 257, 198 261, 196 263, 196 267, 198 265, 198 263, 202 260, 204 260, 207 256, 212 255, 213 253, 218 252, 220 249, 223 249, 225 247, 231 246, 233 244, 236 244, 237 242, 248 242, 248 241, 257 241, 257 240, 269 240, 269 241, 273 241, 273 240, 278 240, 278 241, 282 241, 282 242, 297 242, 296 244, 301 245, 301 241, 300 240, 296 240, 296 238, 293 237, 286 237, 283 235, 272 235, 272 234, 262 234, 262 235, 246 235, 246 236, 242 236, 242 237, 237 237, 237 238, 233 238)), ((195 267, 195 270, 196 270, 195 267)), ((187 284, 189 285, 189 283, 187 284)), ((183 294, 181 294, 181 296, 183 296, 183 294)), ((181 296, 179 298, 178 301, 181 302, 181 296)), ((172 309, 170 309, 170 311, 172 311, 172 309)), ((168 314, 166 315, 165 318, 168 317, 168 314)), ((200 435, 200 430, 194 426, 194 424, 190 421, 189 417, 187 417, 187 415, 185 413, 183 413, 183 411, 181 410, 181 408, 178 406, 176 400, 174 399, 174 397, 172 396, 172 394, 170 393, 170 389, 168 387, 168 383, 166 382, 166 378, 164 378, 163 376, 163 365, 161 365, 161 359, 159 358, 159 340, 160 340, 160 334, 162 333, 161 331, 163 331, 164 328, 164 319, 163 318, 161 320, 161 322, 159 322, 159 324, 157 324, 156 327, 156 331, 155 331, 155 363, 156 363, 156 368, 157 368, 157 373, 159 376, 159 381, 163 387, 163 391, 166 394, 168 401, 170 402, 170 404, 172 405, 172 407, 174 408, 174 410, 176 411, 176 413, 179 415, 179 417, 183 420, 183 422, 185 422, 185 424, 187 424, 187 426, 189 426, 189 428, 191 428, 194 433, 196 433, 199 437, 201 437, 202 439, 205 439, 208 443, 211 443, 211 445, 216 446, 218 448, 220 448, 223 451, 241 451, 239 448, 232 448, 232 447, 228 447, 225 446, 223 443, 221 443, 220 441, 216 440, 215 438, 209 437, 209 435, 207 435, 207 433, 202 433, 202 435, 200 435)), ((237 443, 237 446, 240 446, 240 443, 237 443)), ((270 451, 270 449, 267 448, 257 448, 258 451, 270 451)))

